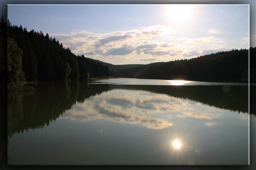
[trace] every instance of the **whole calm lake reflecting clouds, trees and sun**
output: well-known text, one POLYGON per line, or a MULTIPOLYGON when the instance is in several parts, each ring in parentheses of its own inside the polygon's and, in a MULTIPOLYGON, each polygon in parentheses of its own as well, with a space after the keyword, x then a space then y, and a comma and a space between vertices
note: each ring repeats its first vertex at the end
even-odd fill
POLYGON ((119 78, 35 89, 8 95, 8 165, 248 165, 247 83, 119 78))

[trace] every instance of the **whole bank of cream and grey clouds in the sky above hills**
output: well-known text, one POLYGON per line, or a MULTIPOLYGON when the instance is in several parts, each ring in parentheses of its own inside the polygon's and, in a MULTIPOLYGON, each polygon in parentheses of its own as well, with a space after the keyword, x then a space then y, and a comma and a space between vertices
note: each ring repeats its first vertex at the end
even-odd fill
MULTIPOLYGON (((224 41, 214 36, 179 38, 173 32, 175 30, 172 28, 155 25, 105 34, 79 30, 71 34, 51 34, 50 36, 62 42, 66 48, 69 47, 76 55, 84 54, 93 59, 123 62, 122 64, 142 62, 145 64, 156 60, 169 61, 215 53, 221 50, 218 46, 224 41), (114 58, 109 58, 111 56, 114 58), (155 59, 155 57, 161 58, 155 59), (124 58, 126 60, 116 60, 124 58)), ((211 29, 209 32, 217 33, 218 31, 211 29)), ((246 39, 243 40, 246 41, 246 39)))

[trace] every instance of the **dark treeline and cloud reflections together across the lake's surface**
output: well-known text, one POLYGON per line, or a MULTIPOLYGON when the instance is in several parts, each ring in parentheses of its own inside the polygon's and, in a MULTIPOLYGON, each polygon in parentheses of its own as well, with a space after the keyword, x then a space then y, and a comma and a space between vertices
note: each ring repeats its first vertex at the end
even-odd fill
POLYGON ((104 119, 158 130, 172 126, 174 118, 191 117, 208 120, 204 124, 213 127, 220 109, 248 113, 246 86, 229 86, 229 92, 222 87, 38 83, 31 96, 8 97, 8 135, 43 128, 60 117, 80 122, 104 119))

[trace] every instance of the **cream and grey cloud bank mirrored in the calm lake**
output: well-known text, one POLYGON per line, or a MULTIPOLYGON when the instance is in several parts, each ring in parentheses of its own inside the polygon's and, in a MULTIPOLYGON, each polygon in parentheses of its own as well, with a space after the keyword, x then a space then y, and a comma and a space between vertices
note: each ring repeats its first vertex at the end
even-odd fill
POLYGON ((91 97, 84 103, 76 103, 62 118, 82 122, 103 119, 159 130, 172 126, 173 118, 212 120, 220 117, 220 113, 211 109, 213 108, 195 101, 165 94, 116 89, 91 97))

